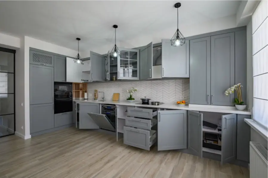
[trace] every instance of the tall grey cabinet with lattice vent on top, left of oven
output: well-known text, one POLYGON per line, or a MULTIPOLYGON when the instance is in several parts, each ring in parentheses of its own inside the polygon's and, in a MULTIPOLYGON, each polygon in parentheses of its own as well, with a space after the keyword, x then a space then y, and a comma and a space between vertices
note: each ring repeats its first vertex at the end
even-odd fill
POLYGON ((30 133, 54 127, 54 55, 30 50, 30 133))

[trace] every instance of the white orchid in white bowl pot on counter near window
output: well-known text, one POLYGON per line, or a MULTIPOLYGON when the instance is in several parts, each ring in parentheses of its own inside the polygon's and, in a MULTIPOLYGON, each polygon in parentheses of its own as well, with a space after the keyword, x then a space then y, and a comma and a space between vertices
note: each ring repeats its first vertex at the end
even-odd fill
POLYGON ((244 102, 242 101, 241 87, 243 87, 241 83, 238 83, 225 91, 225 95, 229 96, 236 90, 237 98, 235 98, 234 104, 238 110, 244 110, 247 107, 247 105, 244 105, 244 102))

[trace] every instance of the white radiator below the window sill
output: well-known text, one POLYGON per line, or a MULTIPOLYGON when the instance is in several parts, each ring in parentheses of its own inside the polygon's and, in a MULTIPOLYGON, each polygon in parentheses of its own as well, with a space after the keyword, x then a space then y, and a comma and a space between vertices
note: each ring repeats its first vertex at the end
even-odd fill
POLYGON ((250 178, 267 178, 267 149, 250 142, 250 178))

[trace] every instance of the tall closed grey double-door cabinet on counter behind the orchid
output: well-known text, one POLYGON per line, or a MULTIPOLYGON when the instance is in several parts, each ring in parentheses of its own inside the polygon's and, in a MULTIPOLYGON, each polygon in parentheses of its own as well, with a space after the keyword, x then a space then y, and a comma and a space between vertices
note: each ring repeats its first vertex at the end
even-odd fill
POLYGON ((190 40, 190 104, 233 106, 224 91, 237 83, 246 93, 245 41, 246 30, 190 40))

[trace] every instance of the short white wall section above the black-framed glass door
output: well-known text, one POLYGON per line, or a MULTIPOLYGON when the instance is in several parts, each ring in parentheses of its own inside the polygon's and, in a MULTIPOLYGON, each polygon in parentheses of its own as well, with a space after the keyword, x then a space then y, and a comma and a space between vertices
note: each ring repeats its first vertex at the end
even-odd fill
POLYGON ((20 38, 0 33, 0 47, 18 49, 20 48, 20 38))

